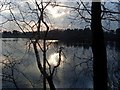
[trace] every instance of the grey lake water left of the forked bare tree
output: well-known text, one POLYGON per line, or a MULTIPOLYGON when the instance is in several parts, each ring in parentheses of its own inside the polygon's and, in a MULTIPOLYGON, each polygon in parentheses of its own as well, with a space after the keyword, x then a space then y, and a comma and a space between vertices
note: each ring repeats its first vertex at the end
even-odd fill
POLYGON ((2 62, 3 88, 34 88, 38 82, 39 85, 41 84, 33 57, 34 54, 28 49, 25 40, 19 39, 17 42, 6 40, 6 42, 3 42, 2 48, 5 57, 2 62))

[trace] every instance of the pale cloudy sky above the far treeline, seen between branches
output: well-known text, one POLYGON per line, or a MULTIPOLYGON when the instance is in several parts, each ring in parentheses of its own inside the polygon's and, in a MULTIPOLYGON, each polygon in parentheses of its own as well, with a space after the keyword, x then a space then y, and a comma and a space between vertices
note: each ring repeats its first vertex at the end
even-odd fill
MULTIPOLYGON (((22 16, 20 13, 20 11, 22 11, 22 15, 24 16, 26 22, 29 23, 29 25, 32 26, 32 25, 34 25, 34 22, 38 21, 36 14, 33 12, 30 13, 31 10, 29 9, 29 6, 32 9, 36 8, 36 6, 34 4, 34 0, 1 0, 0 1, 0 23, 6 22, 6 19, 9 19, 9 22, 4 23, 4 25, 0 24, 0 29, 12 31, 12 30, 18 30, 18 28, 19 28, 15 24, 15 22, 11 21, 12 16, 10 15, 10 11, 7 10, 7 9, 9 9, 9 6, 5 5, 2 7, 2 3, 4 1, 5 1, 5 3, 12 2, 11 8, 13 8, 12 12, 14 13, 16 19, 22 20, 22 16), (29 5, 28 5, 28 3, 29 3, 29 5), (33 20, 34 20, 34 22, 33 22, 33 20)), ((38 1, 40 1, 40 0, 38 0, 38 1)), ((43 1, 45 1, 45 0, 43 0, 43 1)), ((79 0, 75 0, 75 1, 79 1, 79 0)), ((77 2, 75 2, 75 1, 73 2, 71 0, 57 0, 56 3, 61 6, 78 7, 77 2)), ((86 3, 88 3, 87 0, 83 0, 83 1, 86 1, 86 3)), ((113 0, 111 0, 111 1, 113 1, 113 0)), ((117 1, 117 0, 114 0, 114 1, 117 1)), ((109 9, 111 8, 111 5, 106 4, 106 6, 109 9)), ((83 6, 80 5, 79 8, 82 9, 83 6)), ((116 7, 113 5, 112 8, 116 8, 116 7)), ((90 10, 90 8, 89 8, 89 10, 90 10)), ((78 12, 76 12, 75 10, 70 9, 70 8, 59 7, 59 6, 54 7, 52 5, 49 5, 49 6, 47 6, 45 13, 46 13, 45 20, 47 21, 47 23, 51 29, 90 27, 90 23, 86 23, 84 20, 81 19, 78 12)), ((90 15, 87 12, 81 12, 81 13, 83 13, 83 16, 90 18, 90 15)), ((118 25, 116 22, 109 23, 109 21, 104 21, 103 24, 106 28, 111 27, 110 29, 116 29, 116 27, 118 25)), ((25 25, 25 23, 20 23, 20 25, 22 27, 24 27, 24 30, 29 29, 31 31, 30 27, 28 25, 25 25)), ((43 28, 44 28, 44 26, 43 26, 43 28)), ((36 29, 36 28, 34 28, 34 29, 36 29)))

